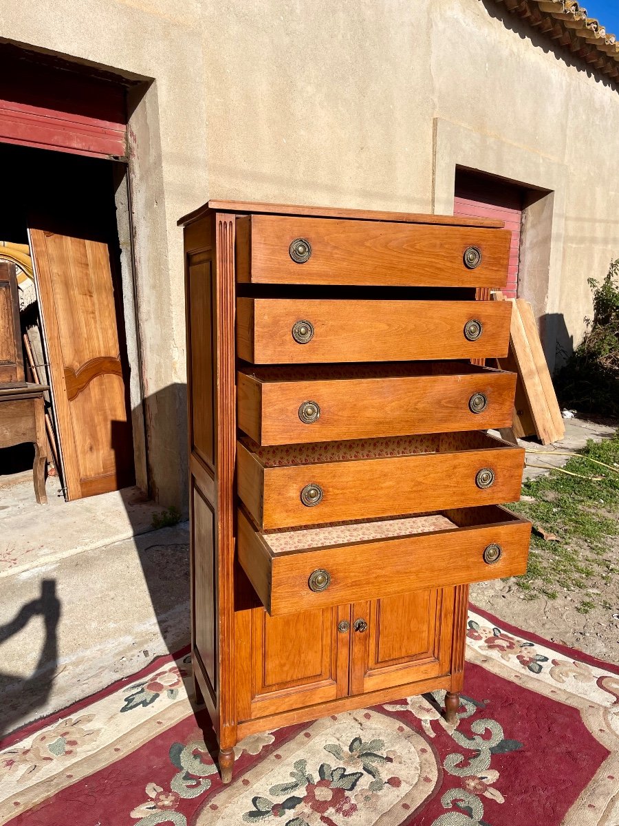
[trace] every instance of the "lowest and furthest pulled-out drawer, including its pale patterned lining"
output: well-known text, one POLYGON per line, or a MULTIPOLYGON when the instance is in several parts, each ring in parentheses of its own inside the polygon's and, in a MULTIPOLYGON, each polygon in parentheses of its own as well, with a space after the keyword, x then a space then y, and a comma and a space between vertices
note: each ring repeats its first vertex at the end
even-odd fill
POLYGON ((238 516, 239 562, 272 616, 527 570, 531 524, 499 506, 271 532, 238 516))

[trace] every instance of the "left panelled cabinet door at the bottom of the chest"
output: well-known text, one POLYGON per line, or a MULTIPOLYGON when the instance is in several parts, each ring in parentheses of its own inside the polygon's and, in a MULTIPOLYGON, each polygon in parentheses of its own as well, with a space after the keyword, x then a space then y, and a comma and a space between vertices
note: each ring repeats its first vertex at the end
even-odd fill
POLYGON ((239 719, 302 708, 348 693, 350 605, 272 617, 262 607, 236 614, 239 719))

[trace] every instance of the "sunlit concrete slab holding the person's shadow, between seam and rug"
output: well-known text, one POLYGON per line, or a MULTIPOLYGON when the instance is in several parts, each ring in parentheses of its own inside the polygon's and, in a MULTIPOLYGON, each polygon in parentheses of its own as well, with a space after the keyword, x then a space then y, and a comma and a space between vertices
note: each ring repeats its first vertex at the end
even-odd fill
POLYGON ((5 577, 0 731, 64 708, 189 642, 187 523, 5 577))

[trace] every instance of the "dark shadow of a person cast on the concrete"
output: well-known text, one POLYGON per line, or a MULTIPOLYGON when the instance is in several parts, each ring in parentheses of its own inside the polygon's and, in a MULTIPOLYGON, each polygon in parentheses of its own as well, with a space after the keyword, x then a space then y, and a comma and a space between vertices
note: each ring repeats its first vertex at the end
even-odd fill
POLYGON ((45 705, 58 665, 58 624, 61 605, 56 596, 56 582, 44 579, 40 597, 22 605, 17 615, 0 626, 0 645, 18 634, 35 616, 45 625, 45 640, 35 670, 29 677, 0 672, 0 738, 12 730, 17 719, 34 719, 35 710, 45 705))

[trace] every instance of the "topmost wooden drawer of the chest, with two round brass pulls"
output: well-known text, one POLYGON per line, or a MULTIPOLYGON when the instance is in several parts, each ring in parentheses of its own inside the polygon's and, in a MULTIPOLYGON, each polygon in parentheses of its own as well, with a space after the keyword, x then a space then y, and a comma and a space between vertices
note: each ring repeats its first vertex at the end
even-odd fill
POLYGON ((509 230, 247 216, 236 221, 237 278, 276 284, 504 287, 509 230))

